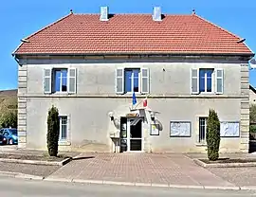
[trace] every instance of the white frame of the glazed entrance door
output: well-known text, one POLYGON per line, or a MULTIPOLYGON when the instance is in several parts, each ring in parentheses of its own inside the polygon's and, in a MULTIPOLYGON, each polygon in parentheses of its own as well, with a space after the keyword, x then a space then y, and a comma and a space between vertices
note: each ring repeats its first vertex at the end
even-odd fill
POLYGON ((144 120, 141 117, 127 117, 127 152, 144 152, 144 132, 143 132, 143 124, 144 120), (141 138, 135 138, 135 139, 141 139, 141 151, 131 151, 131 119, 141 119, 141 138))

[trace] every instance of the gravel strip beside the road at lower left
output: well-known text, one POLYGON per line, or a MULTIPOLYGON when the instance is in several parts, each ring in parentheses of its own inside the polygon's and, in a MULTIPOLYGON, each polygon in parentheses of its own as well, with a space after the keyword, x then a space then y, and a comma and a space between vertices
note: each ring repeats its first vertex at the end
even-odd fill
POLYGON ((44 177, 50 175, 51 173, 60 168, 60 166, 43 166, 0 162, 1 171, 20 172, 44 177))

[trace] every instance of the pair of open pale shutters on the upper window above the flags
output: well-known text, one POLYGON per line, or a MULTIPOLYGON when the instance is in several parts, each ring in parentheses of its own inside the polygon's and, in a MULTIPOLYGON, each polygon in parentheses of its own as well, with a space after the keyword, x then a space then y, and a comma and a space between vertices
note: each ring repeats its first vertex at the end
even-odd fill
MULTIPOLYGON (((149 93, 149 69, 141 68, 140 69, 140 86, 141 86, 141 94, 149 93)), ((116 70, 116 93, 123 94, 124 93, 124 69, 118 68, 116 70)))

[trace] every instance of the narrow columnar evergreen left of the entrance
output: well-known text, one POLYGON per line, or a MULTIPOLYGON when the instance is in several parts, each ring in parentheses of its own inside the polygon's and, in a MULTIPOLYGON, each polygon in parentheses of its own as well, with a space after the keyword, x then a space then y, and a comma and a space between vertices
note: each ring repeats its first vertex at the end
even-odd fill
POLYGON ((47 149, 50 156, 57 156, 58 154, 59 132, 59 112, 58 109, 52 105, 47 116, 47 149))

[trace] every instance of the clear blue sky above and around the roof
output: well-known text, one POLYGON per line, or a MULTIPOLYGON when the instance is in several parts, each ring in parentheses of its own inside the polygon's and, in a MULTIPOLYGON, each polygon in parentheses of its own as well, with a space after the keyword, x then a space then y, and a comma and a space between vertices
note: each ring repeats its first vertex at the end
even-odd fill
MULTIPOLYGON (((151 13, 160 6, 164 13, 196 14, 246 38, 256 51, 256 0, 12 0, 1 1, 0 11, 0 90, 17 88, 18 65, 11 56, 20 39, 58 20, 73 9, 75 13, 97 13, 101 6, 110 12, 151 13)), ((256 70, 250 71, 250 82, 256 86, 256 70)))

